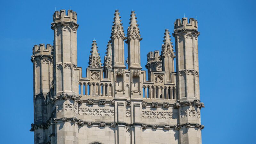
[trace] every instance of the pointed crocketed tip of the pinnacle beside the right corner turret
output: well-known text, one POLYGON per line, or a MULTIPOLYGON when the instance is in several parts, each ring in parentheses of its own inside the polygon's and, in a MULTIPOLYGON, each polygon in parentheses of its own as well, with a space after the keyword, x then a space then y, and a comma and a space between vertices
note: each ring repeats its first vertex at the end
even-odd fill
POLYGON ((170 32, 169 32, 169 29, 165 29, 165 32, 164 32, 164 44, 162 44, 162 55, 171 55, 172 58, 175 58, 175 55, 174 55, 174 49, 173 49, 173 45, 172 45, 172 42, 171 42, 171 36, 169 35, 170 32))

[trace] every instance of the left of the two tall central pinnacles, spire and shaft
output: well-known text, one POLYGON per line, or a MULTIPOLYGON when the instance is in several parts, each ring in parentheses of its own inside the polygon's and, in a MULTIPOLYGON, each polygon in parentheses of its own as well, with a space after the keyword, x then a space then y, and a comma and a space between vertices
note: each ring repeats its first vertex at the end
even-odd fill
POLYGON ((119 16, 119 10, 115 11, 114 21, 111 32, 111 43, 112 43, 112 66, 114 68, 126 68, 124 65, 124 27, 121 23, 119 16))

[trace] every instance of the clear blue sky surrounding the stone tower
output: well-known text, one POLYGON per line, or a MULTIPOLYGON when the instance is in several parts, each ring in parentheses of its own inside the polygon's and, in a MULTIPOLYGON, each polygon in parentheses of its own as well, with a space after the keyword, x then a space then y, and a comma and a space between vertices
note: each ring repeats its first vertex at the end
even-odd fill
MULTIPOLYGON (((255 143, 255 19, 254 1, 12 1, 1 0, 1 104, 0 143, 32 144, 33 66, 32 47, 52 44, 50 28, 56 10, 78 13, 78 66, 88 66, 92 40, 103 60, 111 33, 113 14, 120 10, 125 34, 132 10, 141 30, 141 65, 149 51, 160 50, 164 28, 173 22, 197 18, 200 36, 199 71, 204 144, 255 143)), ((174 42, 174 38, 172 42, 174 42)), ((125 45, 127 51, 127 45, 125 45)), ((127 52, 126 52, 127 57, 127 52)))

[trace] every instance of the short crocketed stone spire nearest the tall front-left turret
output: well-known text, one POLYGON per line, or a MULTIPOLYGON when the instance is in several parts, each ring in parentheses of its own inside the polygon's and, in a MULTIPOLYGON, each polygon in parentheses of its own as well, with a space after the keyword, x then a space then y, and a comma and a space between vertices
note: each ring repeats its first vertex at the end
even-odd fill
POLYGON ((92 41, 91 55, 89 56, 89 68, 101 68, 100 53, 95 40, 92 41))

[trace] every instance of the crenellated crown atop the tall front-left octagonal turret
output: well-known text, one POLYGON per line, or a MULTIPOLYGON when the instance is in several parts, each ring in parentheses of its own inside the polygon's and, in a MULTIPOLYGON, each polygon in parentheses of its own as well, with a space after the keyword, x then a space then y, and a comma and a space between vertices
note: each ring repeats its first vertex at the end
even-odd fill
POLYGON ((77 13, 72 10, 68 10, 68 15, 66 15, 66 10, 55 11, 53 14, 53 22, 74 21, 74 23, 76 23, 76 16, 77 13))

